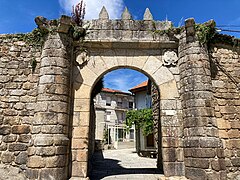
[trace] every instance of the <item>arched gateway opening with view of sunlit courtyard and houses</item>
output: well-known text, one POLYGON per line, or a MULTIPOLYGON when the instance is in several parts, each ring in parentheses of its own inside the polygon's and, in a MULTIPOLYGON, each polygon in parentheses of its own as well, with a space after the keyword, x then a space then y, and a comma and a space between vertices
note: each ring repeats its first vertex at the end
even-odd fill
POLYGON ((106 176, 128 173, 149 174, 150 177, 150 174, 163 174, 159 89, 150 79, 152 78, 129 67, 119 67, 102 74, 92 87, 91 103, 94 108, 90 109, 91 150, 88 167, 89 175, 93 179, 99 175, 96 171, 102 163, 110 163, 115 168, 111 173, 107 173, 110 170, 106 166, 105 171, 102 170, 106 176), (104 88, 99 83, 103 77, 104 88), (94 97, 96 89, 99 93, 94 97), (143 127, 137 128, 136 124, 127 130, 126 114, 128 111, 135 112, 136 109, 153 111, 152 132, 145 134, 143 127), (129 161, 132 156, 135 157, 134 161, 129 161), (148 165, 143 165, 144 161, 148 162, 148 165))

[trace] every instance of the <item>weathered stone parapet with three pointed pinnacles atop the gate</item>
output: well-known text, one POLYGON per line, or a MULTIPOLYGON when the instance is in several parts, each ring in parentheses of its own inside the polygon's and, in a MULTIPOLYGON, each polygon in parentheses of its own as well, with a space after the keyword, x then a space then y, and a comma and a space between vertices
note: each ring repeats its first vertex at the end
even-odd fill
POLYGON ((133 20, 127 8, 123 11, 121 19, 109 19, 108 12, 103 7, 98 19, 84 21, 84 24, 89 27, 86 40, 171 41, 167 31, 172 28, 172 22, 153 20, 148 8, 144 13, 143 20, 133 20), (164 31, 166 33, 163 33, 164 31))

